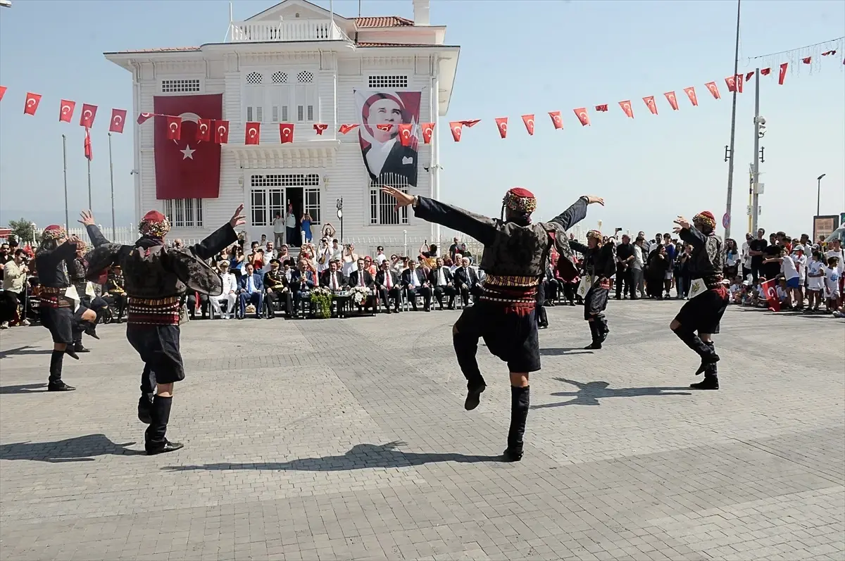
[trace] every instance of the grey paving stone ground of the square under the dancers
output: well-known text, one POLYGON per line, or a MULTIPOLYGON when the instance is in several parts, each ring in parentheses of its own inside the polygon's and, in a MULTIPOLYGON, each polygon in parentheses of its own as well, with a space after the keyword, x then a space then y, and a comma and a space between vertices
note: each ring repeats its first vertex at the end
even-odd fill
POLYGON ((457 312, 183 327, 173 454, 142 454, 122 325, 46 393, 41 327, 0 335, 0 558, 831 559, 845 556, 845 324, 731 308, 695 392, 679 302, 611 302, 602 351, 549 308, 526 456, 510 390, 463 410, 457 312))

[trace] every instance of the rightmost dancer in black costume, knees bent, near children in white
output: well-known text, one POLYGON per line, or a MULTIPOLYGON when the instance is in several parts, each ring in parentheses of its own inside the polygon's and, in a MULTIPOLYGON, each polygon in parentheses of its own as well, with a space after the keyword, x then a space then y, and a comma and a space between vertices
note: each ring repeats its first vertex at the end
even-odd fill
POLYGON ((690 384, 690 388, 719 389, 716 365, 719 356, 712 335, 719 332, 719 323, 728 308, 728 288, 722 284, 725 260, 722 240, 715 235, 716 219, 708 210, 695 215, 692 224, 683 216, 674 222, 678 225, 674 228, 675 233, 692 246, 687 268, 693 282, 690 300, 669 328, 701 357, 701 366, 695 374, 704 373, 704 380, 690 384))

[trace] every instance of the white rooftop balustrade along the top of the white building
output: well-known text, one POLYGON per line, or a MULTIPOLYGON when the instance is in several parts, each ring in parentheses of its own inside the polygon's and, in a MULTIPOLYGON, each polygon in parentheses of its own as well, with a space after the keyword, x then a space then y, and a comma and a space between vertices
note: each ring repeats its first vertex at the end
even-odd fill
POLYGON ((264 41, 341 41, 349 37, 330 19, 281 21, 233 21, 227 41, 256 43, 264 41))

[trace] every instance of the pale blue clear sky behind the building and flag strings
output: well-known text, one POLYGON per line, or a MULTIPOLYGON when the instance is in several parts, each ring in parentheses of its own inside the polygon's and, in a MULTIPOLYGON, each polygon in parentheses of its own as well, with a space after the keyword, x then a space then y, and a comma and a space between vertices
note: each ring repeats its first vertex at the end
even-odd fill
MULTIPOLYGON (((328 7, 328 2, 318 2, 328 7)), ((100 106, 92 131, 95 160, 94 210, 109 214, 106 124, 112 107, 132 109, 128 72, 108 63, 103 52, 155 46, 190 46, 222 41, 228 3, 215 1, 52 2, 14 0, 0 9, 0 222, 22 213, 35 221, 63 221, 61 135, 68 135, 69 204, 87 204, 82 128, 57 122, 61 98, 100 106), (43 95, 35 117, 24 116, 26 91, 43 95)), ((235 19, 273 5, 264 0, 234 3, 235 19)), ((357 13, 357 0, 336 0, 335 11, 357 13)), ((411 0, 363 0, 363 15, 412 17, 411 0)), ((498 215, 506 188, 521 185, 540 199, 548 218, 583 193, 607 199, 591 210, 585 226, 669 231, 675 215, 725 210, 731 102, 724 78, 733 71, 736 3, 705 2, 504 2, 433 0, 431 21, 447 25, 447 43, 461 46, 461 61, 449 115, 444 120, 482 118, 455 144, 441 133, 442 198, 498 215), (722 100, 704 84, 716 81, 722 100), (694 85, 700 106, 691 107, 683 88, 694 85), (663 93, 675 90, 681 109, 672 112, 663 93), (659 115, 641 98, 654 95, 659 115), (631 100, 635 119, 618 101, 631 100), (575 107, 607 103, 591 112, 582 128, 575 107), (563 131, 546 112, 561 110, 563 131), (537 132, 527 136, 522 114, 537 114, 537 132), (493 117, 510 117, 509 138, 499 139, 493 117), (513 126, 516 125, 516 126, 513 126)), ((749 57, 780 52, 845 35, 840 1, 750 2, 743 5, 740 69, 749 57)), ((845 51, 845 49, 842 49, 845 51)), ((815 178, 822 181, 822 214, 845 210, 845 72, 842 57, 777 85, 777 69, 763 82, 761 113, 767 119, 760 225, 798 235, 810 231, 815 214, 815 178)), ((807 54, 817 56, 816 51, 807 54)), ((764 66, 787 62, 772 57, 764 66)), ((351 95, 351 94, 350 94, 351 95)), ((748 164, 753 156, 754 94, 750 84, 737 107, 733 237, 746 229, 748 164)), ((128 132, 128 129, 127 129, 128 132)), ((113 135, 118 223, 132 217, 132 135, 113 135)), ((73 220, 73 218, 72 218, 73 220)))

